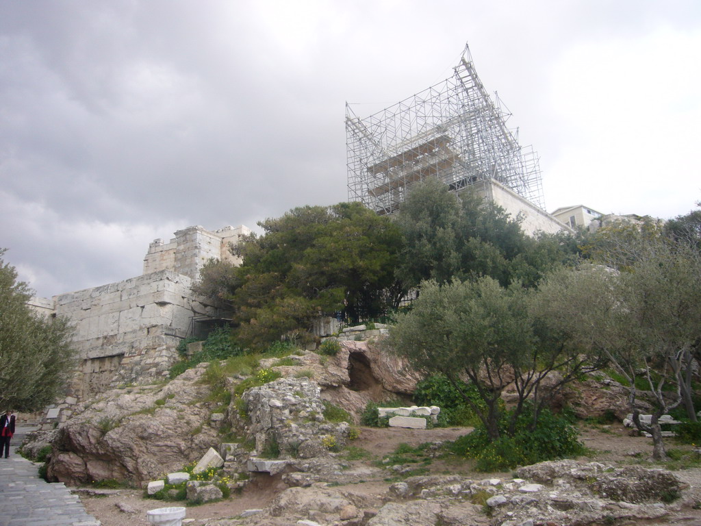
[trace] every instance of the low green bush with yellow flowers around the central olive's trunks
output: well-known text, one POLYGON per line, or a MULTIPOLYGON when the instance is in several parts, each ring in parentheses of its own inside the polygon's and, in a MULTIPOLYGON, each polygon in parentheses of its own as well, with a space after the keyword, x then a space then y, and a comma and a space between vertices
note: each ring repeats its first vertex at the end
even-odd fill
POLYGON ((531 429, 532 407, 526 409, 517 420, 514 436, 508 436, 506 419, 501 424, 501 437, 492 442, 484 426, 452 443, 452 452, 475 459, 477 471, 504 471, 516 466, 536 464, 545 460, 576 457, 584 447, 578 440, 578 431, 566 414, 554 414, 544 409, 538 424, 531 429))

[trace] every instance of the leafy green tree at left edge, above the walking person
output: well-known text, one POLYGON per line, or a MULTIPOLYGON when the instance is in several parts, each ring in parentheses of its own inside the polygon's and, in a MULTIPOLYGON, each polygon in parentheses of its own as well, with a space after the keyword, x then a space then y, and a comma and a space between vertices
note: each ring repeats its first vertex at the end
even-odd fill
POLYGON ((75 365, 72 330, 62 318, 48 319, 27 306, 26 283, 0 249, 0 405, 38 411, 52 403, 75 365))

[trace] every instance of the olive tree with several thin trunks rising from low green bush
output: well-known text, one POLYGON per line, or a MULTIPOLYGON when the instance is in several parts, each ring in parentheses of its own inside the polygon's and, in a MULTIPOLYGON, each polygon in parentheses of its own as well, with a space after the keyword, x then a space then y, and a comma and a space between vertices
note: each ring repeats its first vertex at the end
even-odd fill
MULTIPOLYGON (((390 329, 389 344, 418 370, 447 377, 491 440, 498 440, 502 432, 501 393, 514 384, 518 401, 505 429, 514 436, 526 400, 533 400, 535 427, 552 394, 591 363, 538 323, 529 309, 533 294, 519 283, 504 288, 489 277, 444 285, 423 282, 411 311, 390 329), (538 388, 553 370, 562 376, 545 394, 538 388), (465 392, 463 379, 476 387, 484 405, 465 392)), ((599 361, 592 368, 601 365, 599 361)))

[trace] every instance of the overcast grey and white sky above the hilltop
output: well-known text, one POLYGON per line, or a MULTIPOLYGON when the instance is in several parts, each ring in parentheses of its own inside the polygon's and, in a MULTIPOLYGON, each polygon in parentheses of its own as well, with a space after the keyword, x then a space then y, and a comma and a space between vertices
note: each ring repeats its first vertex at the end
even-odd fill
POLYGON ((701 201, 696 0, 0 0, 4 259, 50 297, 194 224, 345 201, 346 102, 414 95, 465 43, 548 211, 701 201))

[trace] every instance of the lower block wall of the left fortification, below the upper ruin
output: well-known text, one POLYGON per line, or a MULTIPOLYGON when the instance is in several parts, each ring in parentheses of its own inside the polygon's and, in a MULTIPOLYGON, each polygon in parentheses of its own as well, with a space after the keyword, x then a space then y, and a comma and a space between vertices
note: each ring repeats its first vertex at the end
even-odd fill
POLYGON ((177 358, 192 316, 214 313, 191 286, 189 277, 164 270, 55 296, 57 315, 75 328, 74 349, 83 363, 74 395, 161 377, 177 358))

